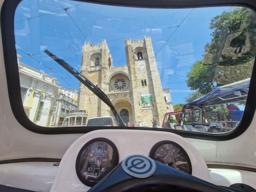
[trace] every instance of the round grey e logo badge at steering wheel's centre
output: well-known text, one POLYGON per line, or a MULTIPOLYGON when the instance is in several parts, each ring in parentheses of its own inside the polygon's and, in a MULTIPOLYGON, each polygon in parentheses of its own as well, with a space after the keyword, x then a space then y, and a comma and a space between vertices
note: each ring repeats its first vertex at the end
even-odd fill
POLYGON ((155 173, 156 164, 144 155, 130 155, 123 160, 122 168, 130 176, 147 178, 155 173))

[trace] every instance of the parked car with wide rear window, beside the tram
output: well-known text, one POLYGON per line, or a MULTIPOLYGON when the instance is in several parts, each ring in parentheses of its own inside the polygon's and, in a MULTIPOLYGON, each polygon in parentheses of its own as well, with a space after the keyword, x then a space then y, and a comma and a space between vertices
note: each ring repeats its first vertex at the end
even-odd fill
POLYGON ((93 117, 90 118, 87 122, 87 126, 111 126, 116 127, 118 123, 116 119, 111 116, 104 116, 104 117, 93 117))

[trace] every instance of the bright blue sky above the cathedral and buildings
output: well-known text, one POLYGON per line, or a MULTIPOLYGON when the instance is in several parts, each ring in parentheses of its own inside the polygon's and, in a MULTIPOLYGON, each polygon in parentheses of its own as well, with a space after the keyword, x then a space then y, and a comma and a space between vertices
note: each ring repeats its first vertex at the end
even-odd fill
MULTIPOLYGON (((79 82, 47 56, 45 49, 80 70, 84 42, 95 44, 106 39, 113 65, 120 65, 126 64, 125 38, 141 39, 149 35, 155 54, 158 53, 156 61, 163 88, 189 90, 186 73, 202 58, 205 44, 211 41, 209 23, 227 9, 229 7, 146 9, 66 0, 37 3, 23 0, 14 19, 17 53, 23 56, 20 60, 23 63, 56 77, 63 87, 78 90, 79 82), (66 12, 62 6, 72 8, 66 12), (32 54, 33 58, 25 53, 32 54)), ((172 92, 173 104, 184 103, 188 94, 172 92)))

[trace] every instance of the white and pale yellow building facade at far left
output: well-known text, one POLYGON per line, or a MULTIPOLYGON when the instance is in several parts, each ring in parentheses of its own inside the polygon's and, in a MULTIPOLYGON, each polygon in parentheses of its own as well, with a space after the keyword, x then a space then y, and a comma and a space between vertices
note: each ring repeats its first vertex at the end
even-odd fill
POLYGON ((37 125, 50 127, 58 95, 57 79, 19 61, 20 90, 28 118, 37 125))

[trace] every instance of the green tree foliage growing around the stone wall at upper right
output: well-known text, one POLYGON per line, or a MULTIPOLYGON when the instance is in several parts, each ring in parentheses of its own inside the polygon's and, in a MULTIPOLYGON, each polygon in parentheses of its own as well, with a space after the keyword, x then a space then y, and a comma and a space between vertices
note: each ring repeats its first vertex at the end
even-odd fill
POLYGON ((188 79, 186 80, 191 90, 197 90, 201 94, 206 94, 219 86, 218 82, 214 82, 217 65, 228 67, 241 64, 241 68, 246 68, 247 63, 254 58, 256 48, 255 13, 246 7, 232 7, 215 16, 210 22, 209 29, 213 30, 211 42, 206 43, 203 59, 193 64, 191 71, 187 73, 188 79), (230 46, 237 47, 236 52, 240 53, 247 35, 250 50, 241 53, 241 56, 236 58, 221 55, 227 34, 238 30, 240 30, 240 35, 231 41, 230 46), (222 61, 219 61, 220 57, 223 58, 222 61), (212 63, 209 63, 208 58, 212 58, 212 63))

